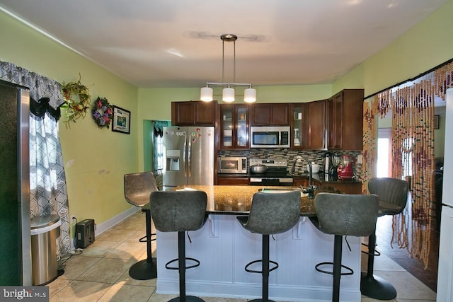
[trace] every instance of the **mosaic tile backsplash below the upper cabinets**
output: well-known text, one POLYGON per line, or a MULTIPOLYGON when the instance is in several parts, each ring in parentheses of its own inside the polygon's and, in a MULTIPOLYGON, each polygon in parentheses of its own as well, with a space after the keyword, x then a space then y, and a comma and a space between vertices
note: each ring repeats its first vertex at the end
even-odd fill
MULTIPOLYGON (((324 170, 324 154, 326 151, 306 151, 306 150, 291 150, 285 148, 275 149, 250 149, 250 150, 219 150, 218 156, 247 156, 248 158, 284 158, 288 162, 288 172, 292 168, 294 161, 297 156, 308 158, 309 161, 318 163, 321 168, 320 171, 324 170)), ((333 152, 338 155, 350 155, 354 156, 357 161, 357 156, 362 155, 362 151, 337 151, 333 152)), ((295 167, 298 173, 306 173, 306 163, 299 161, 295 167)), ((357 175, 357 179, 361 180, 362 176, 362 164, 355 163, 354 173, 357 175)))

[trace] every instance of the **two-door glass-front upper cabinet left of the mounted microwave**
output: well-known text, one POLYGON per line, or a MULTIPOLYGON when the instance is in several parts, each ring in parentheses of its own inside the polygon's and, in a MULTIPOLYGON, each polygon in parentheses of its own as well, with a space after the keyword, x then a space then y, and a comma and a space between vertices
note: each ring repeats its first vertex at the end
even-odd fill
POLYGON ((248 105, 222 104, 220 108, 220 149, 248 149, 248 105))

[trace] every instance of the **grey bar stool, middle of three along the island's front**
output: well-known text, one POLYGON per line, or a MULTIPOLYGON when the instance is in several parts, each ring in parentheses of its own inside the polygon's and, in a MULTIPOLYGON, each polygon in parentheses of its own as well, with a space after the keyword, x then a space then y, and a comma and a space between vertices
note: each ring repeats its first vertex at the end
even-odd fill
POLYGON ((277 269, 278 263, 269 260, 269 235, 284 233, 299 221, 300 202, 301 195, 299 190, 281 193, 258 192, 253 194, 250 214, 236 217, 247 231, 263 236, 263 259, 249 262, 245 267, 246 272, 261 273, 263 275, 262 298, 252 301, 271 301, 269 300, 269 272, 277 269), (257 262, 261 262, 260 271, 248 268, 257 262), (269 268, 270 263, 274 265, 271 269, 269 268))

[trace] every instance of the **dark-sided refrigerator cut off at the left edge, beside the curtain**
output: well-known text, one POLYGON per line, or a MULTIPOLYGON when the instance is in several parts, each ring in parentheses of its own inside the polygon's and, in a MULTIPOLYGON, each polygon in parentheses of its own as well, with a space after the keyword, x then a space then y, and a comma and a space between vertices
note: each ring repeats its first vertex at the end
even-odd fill
POLYGON ((28 88, 0 81, 0 286, 30 286, 28 88))

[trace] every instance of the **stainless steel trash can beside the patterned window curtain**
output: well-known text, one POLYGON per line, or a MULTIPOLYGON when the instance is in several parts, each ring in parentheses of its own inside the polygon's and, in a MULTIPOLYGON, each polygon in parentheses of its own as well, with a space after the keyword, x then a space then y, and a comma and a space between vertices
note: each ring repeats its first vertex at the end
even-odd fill
POLYGON ((58 277, 58 215, 37 216, 31 220, 31 272, 33 285, 44 285, 58 277))

